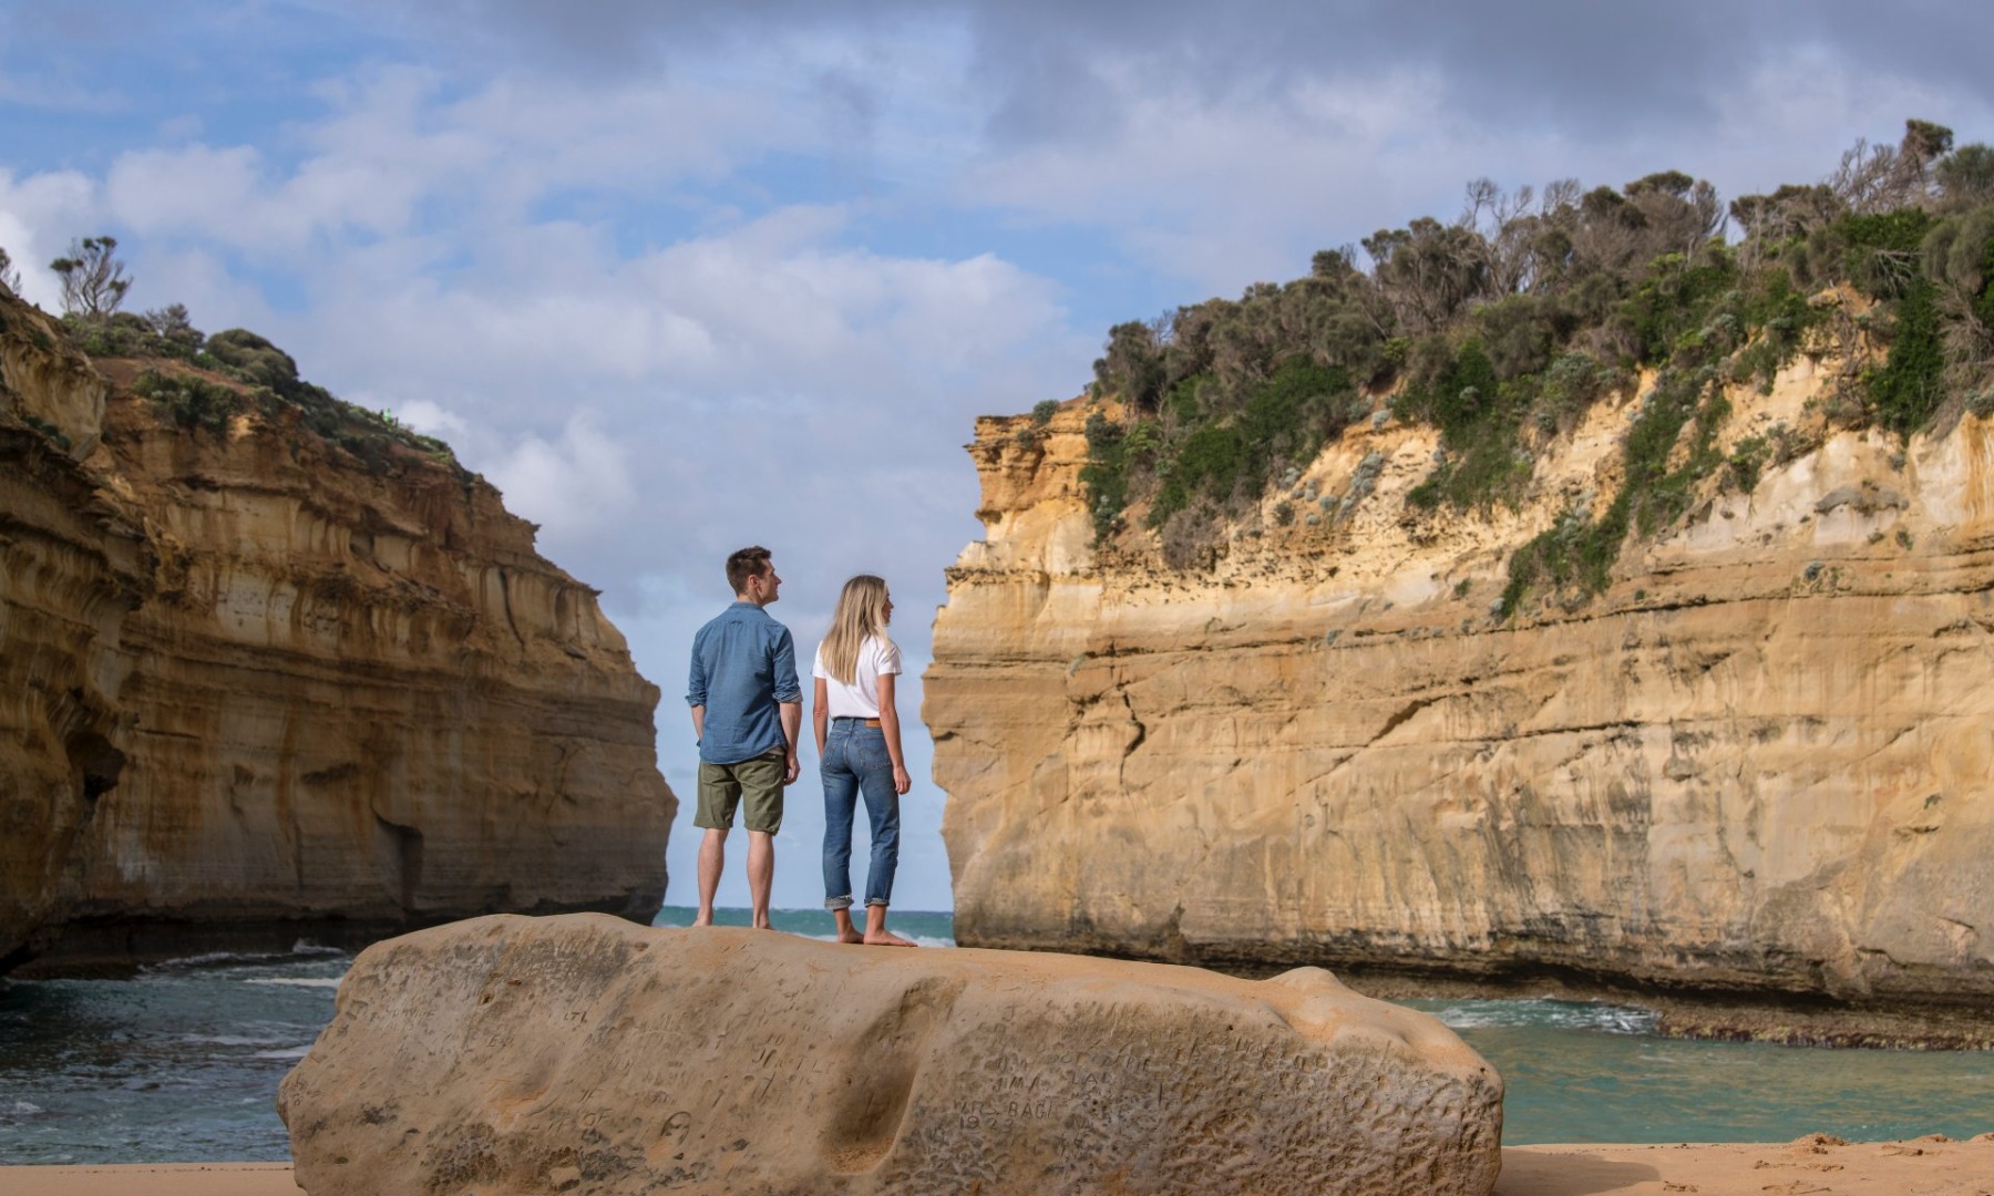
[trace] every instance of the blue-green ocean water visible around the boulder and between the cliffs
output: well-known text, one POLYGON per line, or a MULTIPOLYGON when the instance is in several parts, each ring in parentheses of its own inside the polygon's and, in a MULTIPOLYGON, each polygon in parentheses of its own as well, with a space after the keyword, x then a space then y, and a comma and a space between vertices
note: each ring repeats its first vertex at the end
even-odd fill
MULTIPOLYGON (((686 925, 666 907, 656 925, 686 925)), ((748 911, 720 913, 746 925, 748 911)), ((818 909, 776 929, 830 937, 818 909)), ((953 943, 947 913, 897 933, 953 943)), ((349 959, 209 955, 124 981, 0 979, 0 1164, 285 1160, 277 1082, 331 1021, 349 959)), ((1657 1039, 1641 1009, 1575 1001, 1408 1001, 1507 1080, 1503 1140, 1779 1142, 1994 1130, 1994 1052, 1825 1050, 1657 1039)))

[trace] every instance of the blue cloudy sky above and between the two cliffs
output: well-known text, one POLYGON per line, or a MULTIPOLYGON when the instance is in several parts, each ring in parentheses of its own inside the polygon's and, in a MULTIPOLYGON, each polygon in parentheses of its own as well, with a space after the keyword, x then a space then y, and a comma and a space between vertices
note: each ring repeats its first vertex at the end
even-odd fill
MULTIPOLYGON (((0 247, 56 311, 42 267, 118 237, 128 309, 267 335, 540 524, 664 692, 670 903, 726 554, 774 550, 806 672, 843 580, 885 576, 893 903, 947 909, 919 670, 981 536, 977 415, 1077 395, 1113 323, 1450 219, 1468 179, 1729 199, 1904 118, 1994 142, 1990 44, 1972 0, 0 0, 0 247)), ((804 769, 778 907, 824 899, 804 769)))

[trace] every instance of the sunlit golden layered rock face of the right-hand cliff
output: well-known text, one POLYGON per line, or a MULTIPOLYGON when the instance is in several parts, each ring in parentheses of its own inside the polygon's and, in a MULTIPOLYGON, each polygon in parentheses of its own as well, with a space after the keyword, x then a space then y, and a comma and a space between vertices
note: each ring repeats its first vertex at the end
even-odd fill
POLYGON ((1836 369, 1731 393, 1721 448, 1811 448, 1507 620, 1509 552, 1611 500, 1639 391, 1488 514, 1408 506, 1434 431, 1366 421, 1264 500, 1316 522, 1206 572, 1091 548, 1085 405, 979 421, 923 706, 957 939, 1984 1009, 1994 429, 1834 433, 1836 369))

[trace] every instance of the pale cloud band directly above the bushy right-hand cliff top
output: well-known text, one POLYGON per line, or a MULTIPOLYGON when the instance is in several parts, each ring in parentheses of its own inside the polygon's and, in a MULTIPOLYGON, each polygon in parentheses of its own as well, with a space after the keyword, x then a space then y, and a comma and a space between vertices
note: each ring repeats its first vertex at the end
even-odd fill
POLYGON ((1569 175, 1619 187, 1687 169, 1737 195, 1817 181, 1856 136, 1894 142, 1906 116, 1956 124, 1962 140, 1994 124, 1984 92, 1858 68, 1819 42, 1765 46, 1713 78, 1705 100, 1725 120, 1653 114, 1641 138, 1595 142, 1561 122, 1496 128, 1462 104, 1460 80, 1410 56, 1222 90, 1139 58, 1105 54, 1089 68, 1115 112, 1113 136, 993 144, 955 199, 1097 225, 1186 279, 1184 301, 1298 277, 1314 249, 1416 215, 1452 219, 1462 185, 1480 175, 1505 187, 1569 175))

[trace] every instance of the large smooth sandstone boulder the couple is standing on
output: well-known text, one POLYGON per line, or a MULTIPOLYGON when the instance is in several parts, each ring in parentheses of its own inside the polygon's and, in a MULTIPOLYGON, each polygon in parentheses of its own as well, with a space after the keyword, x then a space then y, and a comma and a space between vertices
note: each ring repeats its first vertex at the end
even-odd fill
POLYGON ((602 915, 367 949, 283 1080, 311 1196, 1486 1194, 1501 1078, 1324 971, 602 915))

